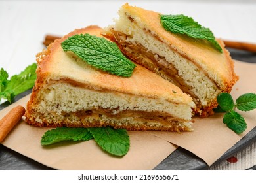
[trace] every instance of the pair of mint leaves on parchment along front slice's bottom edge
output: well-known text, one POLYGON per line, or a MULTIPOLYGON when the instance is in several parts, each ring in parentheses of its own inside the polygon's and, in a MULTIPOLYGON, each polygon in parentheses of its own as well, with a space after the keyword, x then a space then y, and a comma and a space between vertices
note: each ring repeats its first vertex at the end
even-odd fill
POLYGON ((45 132, 41 138, 41 145, 48 146, 62 141, 89 141, 91 139, 95 139, 102 150, 114 156, 124 156, 130 146, 126 129, 113 129, 112 127, 57 127, 45 132))

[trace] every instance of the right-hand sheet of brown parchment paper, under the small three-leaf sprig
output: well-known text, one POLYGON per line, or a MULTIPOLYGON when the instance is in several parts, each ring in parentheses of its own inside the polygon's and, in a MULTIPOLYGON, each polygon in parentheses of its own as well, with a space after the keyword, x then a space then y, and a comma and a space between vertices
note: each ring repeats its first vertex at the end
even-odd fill
MULTIPOLYGON (((256 64, 236 61, 235 71, 240 79, 231 92, 234 101, 244 93, 256 93, 256 64)), ((224 152, 234 146, 256 126, 256 110, 249 112, 236 111, 242 114, 247 122, 246 131, 240 135, 237 135, 228 129, 226 124, 223 124, 224 114, 221 113, 215 113, 209 118, 194 118, 194 131, 192 133, 159 131, 150 131, 149 133, 189 150, 202 158, 208 165, 212 165, 224 152)))

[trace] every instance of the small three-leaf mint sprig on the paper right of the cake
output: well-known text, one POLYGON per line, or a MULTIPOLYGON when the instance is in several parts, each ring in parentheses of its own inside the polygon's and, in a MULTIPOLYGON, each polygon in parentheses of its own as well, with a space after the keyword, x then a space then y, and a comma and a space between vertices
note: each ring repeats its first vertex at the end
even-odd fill
POLYGON ((223 123, 237 134, 243 133, 247 124, 243 116, 236 112, 236 108, 242 111, 254 110, 256 108, 256 94, 245 93, 236 99, 236 103, 230 93, 221 93, 217 96, 218 107, 215 112, 226 112, 223 123))

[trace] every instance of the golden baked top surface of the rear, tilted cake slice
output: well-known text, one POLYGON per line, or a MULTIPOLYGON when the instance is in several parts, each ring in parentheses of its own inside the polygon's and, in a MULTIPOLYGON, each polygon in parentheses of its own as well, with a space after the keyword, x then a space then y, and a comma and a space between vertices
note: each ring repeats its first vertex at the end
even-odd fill
POLYGON ((192 61, 210 78, 215 80, 220 88, 224 90, 229 88, 230 90, 234 82, 238 80, 238 76, 234 73, 234 63, 220 39, 217 39, 217 41, 223 48, 222 53, 207 45, 205 41, 195 41, 184 35, 181 36, 166 31, 161 25, 159 12, 144 10, 125 3, 119 10, 119 14, 125 14, 135 24, 154 35, 156 39, 169 45, 171 49, 192 61))

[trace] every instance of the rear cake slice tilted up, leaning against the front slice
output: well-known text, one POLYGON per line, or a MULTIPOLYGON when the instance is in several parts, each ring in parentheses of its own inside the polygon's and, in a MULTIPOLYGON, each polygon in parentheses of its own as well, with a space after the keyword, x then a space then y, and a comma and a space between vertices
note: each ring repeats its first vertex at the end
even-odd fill
POLYGON ((217 95, 230 92, 238 80, 234 63, 221 40, 223 52, 178 34, 166 31, 160 13, 127 3, 119 10, 105 36, 115 41, 124 54, 150 71, 179 86, 196 103, 196 114, 212 114, 217 95))

